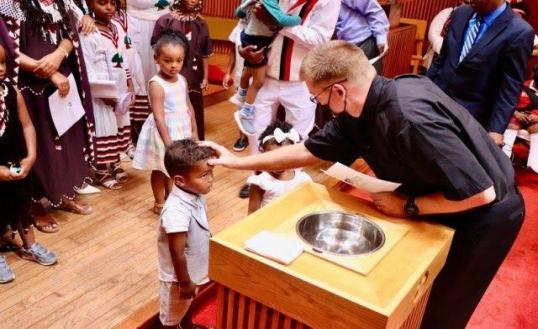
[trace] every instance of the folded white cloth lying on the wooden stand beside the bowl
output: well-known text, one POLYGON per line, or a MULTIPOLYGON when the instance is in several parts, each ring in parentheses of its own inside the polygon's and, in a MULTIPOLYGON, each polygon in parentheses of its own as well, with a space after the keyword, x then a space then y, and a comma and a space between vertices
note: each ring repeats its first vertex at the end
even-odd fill
POLYGON ((298 241, 268 231, 260 231, 245 241, 245 249, 284 265, 291 264, 303 252, 298 241))

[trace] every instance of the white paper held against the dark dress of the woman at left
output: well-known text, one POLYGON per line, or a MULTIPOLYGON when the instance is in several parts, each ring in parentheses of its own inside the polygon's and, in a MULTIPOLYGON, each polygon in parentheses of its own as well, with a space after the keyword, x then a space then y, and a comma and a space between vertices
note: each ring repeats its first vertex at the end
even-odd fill
POLYGON ((60 97, 60 93, 56 90, 49 97, 50 114, 58 136, 65 134, 85 114, 75 78, 71 74, 67 79, 70 86, 67 96, 60 97))

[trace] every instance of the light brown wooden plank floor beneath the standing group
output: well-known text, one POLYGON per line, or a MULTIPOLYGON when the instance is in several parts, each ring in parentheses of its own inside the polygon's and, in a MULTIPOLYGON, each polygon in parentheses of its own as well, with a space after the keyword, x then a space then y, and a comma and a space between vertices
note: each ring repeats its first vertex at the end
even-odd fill
MULTIPOLYGON (((228 102, 206 109, 207 139, 232 147, 238 137, 234 110, 228 102)), ((319 166, 306 171, 317 182, 326 179, 319 166)), ((58 264, 43 267, 6 255, 16 280, 0 285, 0 328, 110 328, 158 295, 158 217, 151 212, 149 172, 128 172, 122 190, 83 197, 92 215, 55 212, 60 232, 37 232, 37 240, 59 255, 58 264)), ((215 169, 208 195, 213 233, 246 216, 248 199, 237 193, 249 175, 215 169)))

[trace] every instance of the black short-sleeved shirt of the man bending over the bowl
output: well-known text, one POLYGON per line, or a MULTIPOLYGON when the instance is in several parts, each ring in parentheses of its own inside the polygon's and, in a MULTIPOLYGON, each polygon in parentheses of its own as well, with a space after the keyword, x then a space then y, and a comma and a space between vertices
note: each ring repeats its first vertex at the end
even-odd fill
POLYGON ((402 183, 398 192, 409 196, 442 192, 459 201, 495 186, 495 204, 515 193, 508 157, 426 77, 377 76, 358 118, 340 114, 305 146, 347 165, 362 157, 378 178, 402 183))

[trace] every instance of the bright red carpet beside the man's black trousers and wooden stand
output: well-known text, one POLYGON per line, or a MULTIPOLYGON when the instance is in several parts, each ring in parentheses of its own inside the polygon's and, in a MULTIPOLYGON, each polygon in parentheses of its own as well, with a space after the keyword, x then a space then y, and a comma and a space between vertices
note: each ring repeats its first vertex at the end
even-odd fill
MULTIPOLYGON (((538 175, 520 169, 516 179, 527 216, 510 254, 473 314, 469 329, 538 328, 538 175)), ((215 327, 215 301, 212 298, 200 308, 195 323, 215 327)))

